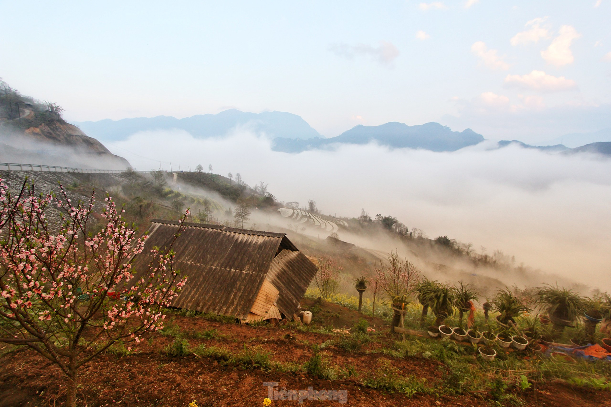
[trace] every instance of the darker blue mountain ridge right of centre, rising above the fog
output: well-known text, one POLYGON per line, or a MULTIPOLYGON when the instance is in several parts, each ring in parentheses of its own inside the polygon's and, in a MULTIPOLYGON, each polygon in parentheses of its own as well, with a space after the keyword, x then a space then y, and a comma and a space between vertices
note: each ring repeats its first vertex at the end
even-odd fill
POLYGON ((484 137, 471 129, 452 131, 439 123, 431 122, 408 126, 392 121, 380 126, 354 126, 337 137, 309 140, 274 139, 273 149, 285 153, 300 153, 309 149, 329 148, 337 144, 367 144, 377 142, 390 148, 422 148, 430 151, 456 151, 483 142, 484 137))

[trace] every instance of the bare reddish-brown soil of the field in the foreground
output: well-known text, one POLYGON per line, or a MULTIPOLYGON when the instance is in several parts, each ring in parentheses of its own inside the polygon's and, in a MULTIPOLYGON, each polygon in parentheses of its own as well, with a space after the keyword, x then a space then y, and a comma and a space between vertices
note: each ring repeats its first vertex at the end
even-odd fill
MULTIPOLYGON (((334 325, 349 325, 359 317, 354 311, 326 305, 329 317, 337 319, 334 325)), ((388 331, 380 326, 376 330, 388 331)), ((214 331, 213 339, 189 339, 192 347, 199 344, 227 348, 236 353, 244 347, 259 347, 271 352, 275 362, 304 364, 312 357, 312 345, 322 344, 333 335, 311 333, 295 328, 274 326, 245 326, 214 322, 202 317, 176 315, 172 324, 189 337, 189 333, 214 331)), ((390 335, 386 335, 392 342, 390 335)), ((447 367, 441 362, 424 358, 392 358, 371 353, 384 346, 384 338, 370 342, 359 351, 340 348, 324 349, 325 355, 338 366, 353 366, 357 370, 376 369, 390 364, 405 375, 425 379, 426 383, 443 386, 447 367)), ((492 406, 485 393, 464 395, 390 394, 363 386, 356 378, 320 380, 304 372, 265 371, 224 366, 212 358, 194 354, 172 358, 162 353, 173 340, 171 336, 153 334, 134 349, 131 355, 117 356, 104 353, 81 369, 78 405, 80 406, 188 406, 196 401, 202 406, 261 406, 268 394, 264 382, 278 382, 280 389, 346 390, 347 406, 492 406)), ((64 399, 65 379, 62 372, 42 356, 31 350, 17 350, 0 359, 0 407, 61 405, 64 399)), ((529 406, 611 406, 609 392, 588 391, 564 383, 533 386, 521 397, 529 406)), ((297 401, 276 401, 272 405, 296 406, 297 401)), ((340 405, 335 401, 305 401, 309 405, 340 405)))

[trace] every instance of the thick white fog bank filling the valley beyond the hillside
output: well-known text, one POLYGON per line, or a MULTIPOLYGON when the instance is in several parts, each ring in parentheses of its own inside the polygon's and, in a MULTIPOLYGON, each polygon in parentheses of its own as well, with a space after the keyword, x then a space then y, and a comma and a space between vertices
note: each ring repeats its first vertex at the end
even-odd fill
POLYGON ((611 288, 608 159, 485 145, 454 153, 342 145, 286 154, 244 131, 205 140, 139 132, 108 148, 139 170, 158 168, 158 160, 183 170, 211 164, 214 173, 241 173, 251 185, 268 182, 280 201, 316 200, 323 214, 337 216, 357 217, 361 208, 393 215, 431 238, 447 234, 478 252, 500 249, 518 264, 611 288))

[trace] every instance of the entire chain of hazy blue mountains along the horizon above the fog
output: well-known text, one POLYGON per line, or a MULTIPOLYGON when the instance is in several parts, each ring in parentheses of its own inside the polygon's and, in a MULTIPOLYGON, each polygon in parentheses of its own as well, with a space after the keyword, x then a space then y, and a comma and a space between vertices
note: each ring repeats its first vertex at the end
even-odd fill
MULTIPOLYGON (((125 140, 139 131, 182 129, 193 137, 205 139, 222 137, 235 129, 244 128, 257 134, 264 134, 272 140, 272 148, 284 153, 301 153, 312 149, 331 149, 342 144, 364 145, 371 142, 389 148, 421 148, 430 151, 456 151, 458 149, 483 142, 483 135, 471 129, 452 131, 447 126, 430 122, 417 126, 392 121, 379 126, 358 125, 343 132, 337 137, 325 138, 313 129, 298 115, 287 112, 249 113, 236 109, 225 110, 217 114, 205 114, 177 119, 158 116, 139 117, 122 120, 83 121, 74 123, 79 128, 101 142, 125 140)), ((578 153, 588 151, 608 154, 604 142, 611 141, 611 129, 604 129, 588 134, 568 134, 557 140, 562 143, 547 145, 528 145, 519 140, 503 140, 499 148, 508 145, 519 145, 522 148, 533 148, 547 153, 578 153), (579 140, 585 141, 580 143, 579 140), (603 143, 593 143, 603 142, 603 143), (591 144, 588 144, 591 143, 591 144), (585 146, 584 144, 588 144, 585 146), (571 149, 571 146, 583 148, 571 149)))

